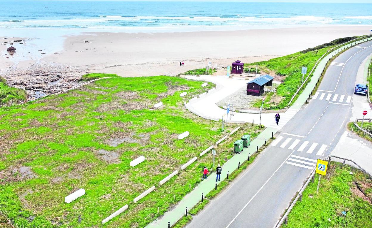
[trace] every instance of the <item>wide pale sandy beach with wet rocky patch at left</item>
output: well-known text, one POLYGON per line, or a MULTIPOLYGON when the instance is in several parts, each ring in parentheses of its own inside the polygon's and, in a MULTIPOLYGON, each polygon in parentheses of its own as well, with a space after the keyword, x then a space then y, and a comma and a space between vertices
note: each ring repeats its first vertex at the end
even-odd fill
POLYGON ((368 31, 368 26, 333 26, 178 33, 74 32, 64 36, 38 32, 38 37, 0 37, 0 75, 12 86, 56 93, 75 87, 84 73, 178 75, 205 67, 209 61, 221 67, 238 59, 244 63, 268 60, 368 31), (12 42, 17 39, 23 42, 12 42), (10 43, 16 47, 15 53, 6 52, 10 43), (179 66, 180 61, 185 62, 184 67, 179 66))

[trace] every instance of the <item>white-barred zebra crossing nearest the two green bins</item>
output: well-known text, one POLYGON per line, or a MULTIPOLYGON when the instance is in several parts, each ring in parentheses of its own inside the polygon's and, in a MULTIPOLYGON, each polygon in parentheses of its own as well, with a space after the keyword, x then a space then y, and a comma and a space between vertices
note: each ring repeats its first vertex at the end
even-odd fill
POLYGON ((310 142, 301 139, 294 139, 291 137, 285 138, 284 136, 279 136, 275 139, 271 146, 279 146, 279 148, 288 148, 290 150, 295 149, 298 152, 306 152, 306 153, 316 153, 318 156, 322 156, 325 149, 327 148, 326 144, 319 144, 317 142, 310 142))

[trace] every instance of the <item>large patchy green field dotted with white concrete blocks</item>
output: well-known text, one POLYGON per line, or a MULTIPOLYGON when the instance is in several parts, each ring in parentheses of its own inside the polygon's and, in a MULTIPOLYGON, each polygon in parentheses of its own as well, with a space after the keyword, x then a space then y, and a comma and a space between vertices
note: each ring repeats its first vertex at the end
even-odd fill
MULTIPOLYGON (((15 227, 101 227, 104 218, 128 204, 103 227, 144 227, 200 182, 212 156, 199 158, 199 153, 226 134, 221 122, 183 106, 214 86, 202 83, 169 76, 115 77, 0 109, 0 212, 15 227), (158 102, 164 105, 153 109, 158 102), (178 140, 186 130, 190 136, 178 140), (145 162, 129 166, 140 155, 145 162), (198 161, 158 185, 194 156, 198 161), (154 192, 133 203, 153 185, 154 192), (79 188, 86 195, 66 204, 64 197, 79 188)), ((228 124, 227 132, 237 126, 228 124)), ((254 137, 257 128, 242 125, 236 134, 254 137)), ((232 156, 232 140, 216 149, 221 164, 232 156)))

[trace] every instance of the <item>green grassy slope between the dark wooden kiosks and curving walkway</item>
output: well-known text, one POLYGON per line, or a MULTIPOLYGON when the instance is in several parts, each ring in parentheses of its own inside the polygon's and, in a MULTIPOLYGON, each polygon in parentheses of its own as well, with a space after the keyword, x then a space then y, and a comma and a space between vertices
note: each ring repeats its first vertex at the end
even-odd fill
MULTIPOLYGON (((314 67, 317 60, 324 53, 337 46, 338 44, 347 42, 355 38, 356 37, 345 37, 336 39, 330 43, 325 43, 314 48, 303 50, 301 52, 289 54, 287 56, 278 57, 263 62, 244 64, 244 67, 255 67, 256 64, 258 64, 258 68, 262 73, 272 74, 274 72, 276 75, 279 76, 279 79, 283 80, 283 82, 278 86, 275 95, 275 100, 278 100, 278 102, 270 102, 274 93, 268 93, 265 98, 263 107, 265 109, 282 109, 288 106, 289 100, 291 100, 292 96, 302 83, 302 67, 307 67, 307 73, 310 73, 312 67, 314 67)), ((307 75, 305 75, 304 80, 306 77, 307 75)), ((308 80, 307 82, 309 81, 310 80, 308 80)), ((304 89, 305 86, 303 86, 302 88, 304 89)), ((256 108, 259 108, 260 106, 260 101, 253 105, 253 107, 256 108)))

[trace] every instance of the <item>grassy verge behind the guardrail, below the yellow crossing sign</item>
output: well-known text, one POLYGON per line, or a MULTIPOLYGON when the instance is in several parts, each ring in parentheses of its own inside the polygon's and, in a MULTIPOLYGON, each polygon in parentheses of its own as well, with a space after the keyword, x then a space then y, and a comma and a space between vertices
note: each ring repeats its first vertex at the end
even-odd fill
POLYGON ((372 179, 358 169, 332 162, 327 176, 310 182, 288 215, 286 228, 367 228, 372 227, 372 179), (349 174, 353 172, 353 174, 349 174), (345 211, 346 215, 342 212, 345 211))

